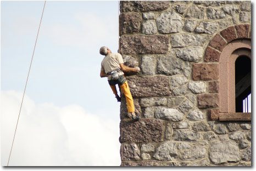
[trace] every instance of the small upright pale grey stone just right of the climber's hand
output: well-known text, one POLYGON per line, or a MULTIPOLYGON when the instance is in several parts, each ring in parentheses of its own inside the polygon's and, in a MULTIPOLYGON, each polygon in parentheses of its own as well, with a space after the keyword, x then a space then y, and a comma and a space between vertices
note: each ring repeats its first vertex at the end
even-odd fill
POLYGON ((155 56, 141 56, 141 72, 144 75, 155 74, 155 56))

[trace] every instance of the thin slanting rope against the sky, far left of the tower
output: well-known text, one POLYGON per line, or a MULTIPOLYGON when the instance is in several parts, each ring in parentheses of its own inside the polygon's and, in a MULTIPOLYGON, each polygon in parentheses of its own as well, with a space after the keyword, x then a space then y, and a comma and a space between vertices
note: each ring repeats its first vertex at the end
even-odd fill
MULTIPOLYGON (((44 1, 43 11, 44 11, 44 7, 45 7, 45 5, 46 5, 46 1, 44 1)), ((36 42, 37 42, 38 33, 39 33, 39 30, 40 30, 40 26, 41 26, 42 18, 43 18, 43 12, 42 12, 42 16, 41 16, 40 24, 39 24, 39 27, 38 27, 38 31, 37 31, 36 42)), ((31 59, 31 62, 30 62, 29 73, 30 73, 30 69, 31 69, 32 61, 33 61, 33 58, 34 58, 35 49, 36 49, 36 43, 35 43, 34 51, 33 51, 33 54, 32 54, 32 59, 31 59)), ((28 81, 28 79, 29 79, 29 73, 27 74, 27 81, 28 81)), ((22 100, 21 100, 20 111, 21 111, 21 107, 22 107, 22 104, 23 104, 24 95, 25 95, 25 92, 26 92, 27 81, 26 81, 26 85, 25 85, 24 92, 23 92, 23 98, 22 98, 22 100)), ((19 117, 18 117, 18 120, 17 120, 17 123, 16 123, 16 128, 15 128, 15 132, 14 132, 14 136, 13 136, 13 143, 14 143, 14 139, 15 139, 15 135, 16 135, 16 130, 17 130, 17 127, 18 127, 19 118, 20 118, 20 112, 19 112, 19 117)), ((11 147, 11 149, 10 149, 10 155, 11 155, 12 150, 13 150, 13 143, 12 143, 12 147, 11 147)), ((9 166, 10 155, 9 155, 9 159, 8 159, 7 166, 9 166)))

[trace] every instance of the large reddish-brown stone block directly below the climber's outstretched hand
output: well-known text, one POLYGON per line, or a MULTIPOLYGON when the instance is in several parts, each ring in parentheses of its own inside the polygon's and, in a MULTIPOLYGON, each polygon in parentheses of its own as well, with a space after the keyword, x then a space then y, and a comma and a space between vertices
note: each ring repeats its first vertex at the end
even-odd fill
POLYGON ((165 76, 136 76, 126 77, 134 98, 146 98, 151 96, 170 96, 171 89, 169 78, 165 76))

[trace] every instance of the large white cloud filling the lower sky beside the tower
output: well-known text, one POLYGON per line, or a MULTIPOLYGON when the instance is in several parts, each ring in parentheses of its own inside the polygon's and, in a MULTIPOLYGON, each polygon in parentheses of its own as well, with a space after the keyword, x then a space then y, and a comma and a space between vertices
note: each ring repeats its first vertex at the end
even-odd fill
MULTIPOLYGON (((8 162, 22 93, 1 92, 1 165, 8 162)), ((9 166, 119 166, 119 122, 78 105, 35 104, 25 96, 9 166)))

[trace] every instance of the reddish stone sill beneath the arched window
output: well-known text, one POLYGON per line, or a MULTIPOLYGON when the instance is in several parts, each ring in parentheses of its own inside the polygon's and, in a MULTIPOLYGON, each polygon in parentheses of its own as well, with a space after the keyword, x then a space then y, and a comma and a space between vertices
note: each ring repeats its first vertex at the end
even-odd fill
POLYGON ((251 121, 252 113, 219 113, 219 121, 251 121))

